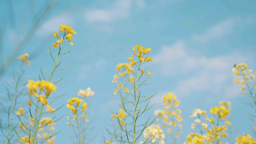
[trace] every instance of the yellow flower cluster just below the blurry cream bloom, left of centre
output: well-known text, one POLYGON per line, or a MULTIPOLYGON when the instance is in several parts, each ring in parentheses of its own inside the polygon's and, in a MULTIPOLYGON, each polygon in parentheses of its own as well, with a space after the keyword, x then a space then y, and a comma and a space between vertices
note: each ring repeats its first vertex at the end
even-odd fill
MULTIPOLYGON (((77 120, 78 121, 78 114, 77 114, 77 108, 81 105, 81 103, 83 102, 83 105, 82 105, 82 111, 86 111, 87 110, 87 103, 85 101, 83 101, 82 99, 79 99, 79 98, 76 98, 76 97, 73 97, 72 99, 69 99, 68 100, 68 104, 66 105, 67 108, 69 108, 72 112, 73 112, 73 115, 74 118, 73 120, 77 120)), ((85 113, 83 113, 82 115, 82 118, 86 118, 87 116, 85 115, 85 113)), ((70 117, 67 117, 67 119, 69 120, 70 117)), ((71 123, 68 123, 68 125, 71 125, 71 123)))

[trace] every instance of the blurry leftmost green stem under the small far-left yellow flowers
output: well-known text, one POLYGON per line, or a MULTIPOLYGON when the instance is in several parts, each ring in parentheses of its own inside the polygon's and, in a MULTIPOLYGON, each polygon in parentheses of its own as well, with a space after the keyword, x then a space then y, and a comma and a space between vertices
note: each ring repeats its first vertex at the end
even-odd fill
POLYGON ((9 142, 8 136, 9 136, 11 121, 12 121, 12 117, 13 117, 13 110, 14 110, 14 107, 16 105, 18 85, 19 85, 19 80, 20 80, 20 77, 21 77, 23 64, 24 63, 22 62, 22 65, 21 65, 21 68, 20 68, 20 71, 19 71, 19 78, 18 78, 18 81, 17 81, 17 84, 16 84, 16 89, 15 89, 15 94, 14 94, 14 99, 13 99, 13 106, 12 106, 11 115, 10 115, 10 119, 9 119, 8 131, 7 131, 7 134, 6 134, 6 142, 5 142, 6 144, 9 142))

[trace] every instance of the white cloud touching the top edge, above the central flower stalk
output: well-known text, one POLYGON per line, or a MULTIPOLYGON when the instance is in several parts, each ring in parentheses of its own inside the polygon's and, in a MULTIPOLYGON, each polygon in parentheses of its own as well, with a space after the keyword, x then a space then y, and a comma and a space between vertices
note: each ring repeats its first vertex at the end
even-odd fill
MULTIPOLYGON (((116 18, 127 18, 130 16, 131 5, 134 0, 119 0, 112 8, 93 9, 85 12, 85 19, 88 22, 111 22, 116 18)), ((140 8, 145 6, 143 0, 136 0, 140 8)))

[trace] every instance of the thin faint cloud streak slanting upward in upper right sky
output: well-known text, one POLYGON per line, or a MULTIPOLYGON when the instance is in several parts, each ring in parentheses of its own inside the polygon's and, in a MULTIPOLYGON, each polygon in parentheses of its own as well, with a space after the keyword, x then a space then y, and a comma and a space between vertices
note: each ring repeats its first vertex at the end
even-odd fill
POLYGON ((195 35, 193 38, 200 42, 206 42, 209 39, 221 37, 223 35, 233 32, 233 26, 236 19, 228 18, 223 22, 220 22, 207 30, 206 34, 195 35))

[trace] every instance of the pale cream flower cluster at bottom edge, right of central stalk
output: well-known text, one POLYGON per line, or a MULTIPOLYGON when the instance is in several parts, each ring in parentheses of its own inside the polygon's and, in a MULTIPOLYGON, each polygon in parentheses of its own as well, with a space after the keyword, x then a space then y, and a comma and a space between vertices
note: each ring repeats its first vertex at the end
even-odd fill
POLYGON ((165 135, 162 128, 159 125, 150 125, 145 129, 143 134, 146 141, 149 140, 151 137, 153 138, 152 139, 153 143, 157 142, 158 139, 161 139, 159 141, 159 144, 164 144, 165 135))

